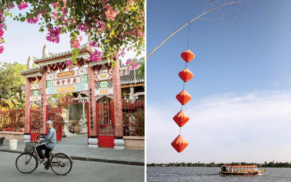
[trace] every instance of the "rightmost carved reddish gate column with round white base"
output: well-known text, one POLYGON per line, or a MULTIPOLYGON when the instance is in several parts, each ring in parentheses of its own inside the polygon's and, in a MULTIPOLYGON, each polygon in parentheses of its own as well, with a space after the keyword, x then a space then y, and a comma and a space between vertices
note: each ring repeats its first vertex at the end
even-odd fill
POLYGON ((114 105, 114 130, 115 130, 115 149, 124 149, 123 121, 122 121, 122 98, 120 81, 120 61, 117 58, 116 65, 112 69, 113 79, 113 105, 114 105))

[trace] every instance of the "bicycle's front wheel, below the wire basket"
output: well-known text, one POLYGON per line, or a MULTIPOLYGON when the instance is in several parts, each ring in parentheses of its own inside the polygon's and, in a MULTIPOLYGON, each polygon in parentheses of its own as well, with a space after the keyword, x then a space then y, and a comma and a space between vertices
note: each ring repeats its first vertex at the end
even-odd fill
POLYGON ((19 170, 20 172, 31 173, 37 168, 38 163, 34 155, 22 153, 17 157, 15 165, 17 170, 19 170))

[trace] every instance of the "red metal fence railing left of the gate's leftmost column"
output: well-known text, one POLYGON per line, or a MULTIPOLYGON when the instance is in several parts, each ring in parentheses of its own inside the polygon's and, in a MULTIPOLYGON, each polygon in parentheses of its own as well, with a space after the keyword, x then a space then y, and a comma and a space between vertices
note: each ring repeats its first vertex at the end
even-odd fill
POLYGON ((24 109, 0 110, 0 131, 24 132, 24 109))

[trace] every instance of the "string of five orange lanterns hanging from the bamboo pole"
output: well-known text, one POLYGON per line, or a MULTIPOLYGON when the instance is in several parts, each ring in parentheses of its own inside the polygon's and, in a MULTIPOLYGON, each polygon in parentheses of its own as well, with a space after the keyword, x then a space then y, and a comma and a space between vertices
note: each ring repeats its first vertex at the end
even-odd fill
MULTIPOLYGON (((183 108, 183 105, 185 105, 192 99, 191 95, 184 89, 184 87, 185 82, 188 82, 190 79, 193 78, 193 73, 189 69, 187 69, 187 63, 194 59, 195 55, 189 49, 187 49, 186 51, 181 53, 181 58, 186 61, 186 65, 185 69, 180 71, 178 75, 184 81, 184 86, 183 90, 176 95, 176 99, 182 104, 183 108)), ((177 152, 182 152, 189 144, 189 142, 181 135, 181 127, 190 120, 189 116, 187 116, 182 108, 181 111, 173 117, 173 120, 180 127, 180 134, 171 143, 172 147, 174 147, 177 152)))

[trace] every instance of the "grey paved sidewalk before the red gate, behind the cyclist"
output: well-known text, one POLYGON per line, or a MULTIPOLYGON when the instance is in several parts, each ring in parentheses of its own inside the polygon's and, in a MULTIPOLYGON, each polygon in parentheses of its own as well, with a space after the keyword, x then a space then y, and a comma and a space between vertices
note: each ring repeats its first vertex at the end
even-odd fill
MULTIPOLYGON (((9 140, 4 140, 0 146, 2 152, 24 153, 25 143, 18 142, 17 150, 9 149, 9 140)), ((120 163, 144 166, 145 154, 143 150, 116 150, 113 148, 89 148, 87 147, 87 135, 62 138, 57 142, 54 153, 67 153, 73 160, 88 160, 97 162, 120 163)))

